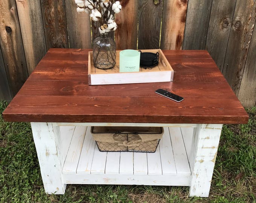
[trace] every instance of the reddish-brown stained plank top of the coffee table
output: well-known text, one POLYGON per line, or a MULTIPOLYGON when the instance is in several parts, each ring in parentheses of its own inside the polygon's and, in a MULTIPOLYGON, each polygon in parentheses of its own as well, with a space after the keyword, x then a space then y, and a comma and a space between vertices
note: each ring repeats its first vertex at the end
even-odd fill
POLYGON ((205 50, 163 50, 173 82, 88 85, 88 51, 51 48, 3 112, 5 121, 247 123, 248 115, 205 50), (162 88, 180 103, 155 94, 162 88))

